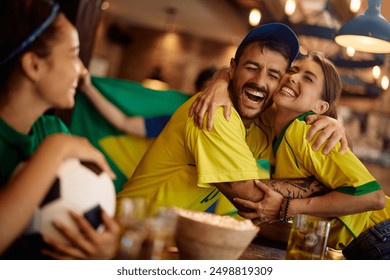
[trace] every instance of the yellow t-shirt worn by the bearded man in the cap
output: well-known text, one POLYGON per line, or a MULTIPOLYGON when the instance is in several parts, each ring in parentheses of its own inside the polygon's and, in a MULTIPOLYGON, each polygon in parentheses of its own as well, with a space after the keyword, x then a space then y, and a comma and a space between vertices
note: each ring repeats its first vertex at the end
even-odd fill
POLYGON ((118 193, 118 199, 146 198, 152 211, 159 206, 177 206, 234 214, 236 209, 231 204, 218 206, 222 195, 212 183, 269 178, 269 172, 256 162, 267 158, 261 156, 269 142, 264 141, 262 130, 255 124, 246 130, 234 109, 227 121, 222 107, 215 113, 212 131, 205 124, 199 129, 188 117, 195 98, 174 113, 118 193), (255 145, 249 148, 247 140, 255 145))

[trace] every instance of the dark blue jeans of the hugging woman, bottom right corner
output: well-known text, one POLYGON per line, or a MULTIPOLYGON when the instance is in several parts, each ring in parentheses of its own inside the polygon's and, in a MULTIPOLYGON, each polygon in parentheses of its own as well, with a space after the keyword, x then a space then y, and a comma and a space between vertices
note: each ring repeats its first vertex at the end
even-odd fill
POLYGON ((390 260, 390 219, 360 234, 343 255, 348 260, 390 260))

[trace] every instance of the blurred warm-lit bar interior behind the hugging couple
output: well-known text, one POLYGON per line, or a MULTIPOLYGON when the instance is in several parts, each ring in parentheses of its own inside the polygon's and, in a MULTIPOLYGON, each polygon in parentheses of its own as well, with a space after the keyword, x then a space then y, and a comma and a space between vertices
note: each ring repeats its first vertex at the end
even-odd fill
POLYGON ((335 42, 340 28, 368 7, 379 5, 377 12, 388 21, 390 0, 60 2, 80 32, 81 57, 92 74, 159 80, 186 94, 195 93, 202 70, 229 64, 251 28, 288 24, 302 54, 322 51, 337 66, 343 79, 339 115, 353 150, 390 195, 390 54, 335 42))

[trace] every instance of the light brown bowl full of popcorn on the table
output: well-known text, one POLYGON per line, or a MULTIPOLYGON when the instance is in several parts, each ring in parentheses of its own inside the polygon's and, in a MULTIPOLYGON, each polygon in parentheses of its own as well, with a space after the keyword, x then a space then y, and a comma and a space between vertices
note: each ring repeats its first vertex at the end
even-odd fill
POLYGON ((236 260, 260 230, 250 220, 176 210, 175 242, 183 260, 236 260))

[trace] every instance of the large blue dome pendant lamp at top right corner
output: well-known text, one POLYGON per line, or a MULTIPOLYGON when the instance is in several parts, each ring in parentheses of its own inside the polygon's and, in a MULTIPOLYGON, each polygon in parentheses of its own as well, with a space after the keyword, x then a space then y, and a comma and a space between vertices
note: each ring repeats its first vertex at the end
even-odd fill
POLYGON ((381 0, 368 0, 364 14, 344 24, 336 35, 337 44, 357 51, 390 53, 390 24, 380 14, 381 0))

